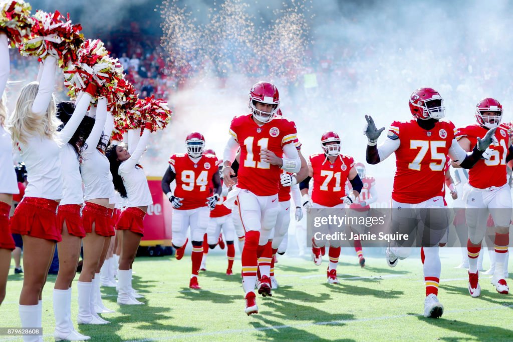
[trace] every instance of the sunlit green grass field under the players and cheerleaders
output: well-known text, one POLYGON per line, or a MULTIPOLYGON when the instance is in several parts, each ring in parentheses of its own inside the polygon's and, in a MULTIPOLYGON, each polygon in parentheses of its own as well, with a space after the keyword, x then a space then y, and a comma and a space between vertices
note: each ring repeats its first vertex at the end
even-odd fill
MULTIPOLYGON (((384 258, 366 259, 367 267, 361 269, 356 256, 342 255, 341 284, 328 285, 326 260, 316 267, 306 257, 283 256, 275 267, 280 288, 270 298, 258 297, 260 313, 248 317, 243 311, 239 266, 234 267, 236 274, 226 276, 224 256, 209 255, 208 271, 199 278, 202 290, 188 288, 188 255, 180 261, 137 258, 134 288, 146 296, 146 305, 120 308, 115 289, 102 288, 105 305, 117 311, 103 315, 111 324, 78 330, 95 341, 513 340, 513 295, 498 294, 488 276, 483 276, 481 297, 471 298, 466 271, 452 268, 459 264, 459 252, 442 258, 439 298, 445 312, 440 319, 422 316, 424 283, 419 258, 401 260, 394 269, 386 266, 384 258)), ((235 265, 240 265, 240 259, 235 265)), ((19 326, 22 278, 9 276, 7 297, 0 308, 1 327, 19 326)), ((45 340, 53 340, 54 280, 55 276, 48 277, 44 291, 45 340)))

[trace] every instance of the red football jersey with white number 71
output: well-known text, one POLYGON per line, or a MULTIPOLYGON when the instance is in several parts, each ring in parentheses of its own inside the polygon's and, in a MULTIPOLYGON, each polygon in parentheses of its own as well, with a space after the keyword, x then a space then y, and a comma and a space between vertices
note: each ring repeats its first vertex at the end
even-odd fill
POLYGON ((309 158, 313 171, 312 202, 325 207, 344 203, 345 184, 349 171, 354 166, 353 157, 340 154, 331 164, 324 153, 312 154, 309 158))

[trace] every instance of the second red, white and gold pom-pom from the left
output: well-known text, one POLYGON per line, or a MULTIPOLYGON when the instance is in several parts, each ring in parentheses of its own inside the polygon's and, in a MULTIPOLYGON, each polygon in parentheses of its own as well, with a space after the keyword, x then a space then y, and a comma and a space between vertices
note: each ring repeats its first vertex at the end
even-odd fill
POLYGON ((58 11, 40 10, 31 20, 30 36, 19 46, 22 56, 36 56, 40 61, 53 56, 61 67, 78 61, 77 50, 84 42, 84 35, 80 24, 71 23, 69 13, 65 17, 58 11))

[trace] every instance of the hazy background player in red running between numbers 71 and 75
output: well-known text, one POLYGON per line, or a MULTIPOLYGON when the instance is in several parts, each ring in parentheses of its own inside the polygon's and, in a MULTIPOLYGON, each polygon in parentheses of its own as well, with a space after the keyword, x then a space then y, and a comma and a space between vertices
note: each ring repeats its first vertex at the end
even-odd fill
MULTIPOLYGON (((365 165, 363 163, 356 163, 354 167, 358 172, 358 176, 362 180, 363 187, 360 192, 360 196, 357 197, 356 202, 349 206, 349 209, 352 209, 355 213, 366 217, 370 209, 370 205, 378 200, 376 179, 365 174, 365 165)), ((352 190, 351 184, 350 182, 346 182, 346 193, 349 193, 350 190, 352 190)), ((350 228, 354 234, 363 233, 363 231, 360 230, 365 229, 365 227, 362 227, 361 225, 350 228)), ((358 256, 359 264, 363 268, 365 267, 365 258, 363 257, 362 243, 360 240, 353 240, 353 245, 354 251, 356 251, 356 255, 358 256)))

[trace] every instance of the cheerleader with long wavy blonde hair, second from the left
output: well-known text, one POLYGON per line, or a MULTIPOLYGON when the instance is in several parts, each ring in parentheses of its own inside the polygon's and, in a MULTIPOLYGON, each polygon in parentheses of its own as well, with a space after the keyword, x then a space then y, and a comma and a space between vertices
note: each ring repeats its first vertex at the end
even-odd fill
MULTIPOLYGON (((46 57, 41 82, 23 87, 9 122, 12 141, 27 167, 28 185, 22 202, 12 217, 12 232, 23 236, 23 288, 19 296, 19 316, 23 328, 41 327, 42 291, 53 258, 55 243, 61 242, 56 210, 62 198, 60 150, 74 134, 81 118, 73 115, 66 127, 56 117, 52 94, 56 59, 46 57)), ((24 336, 25 340, 43 340, 24 336)))

